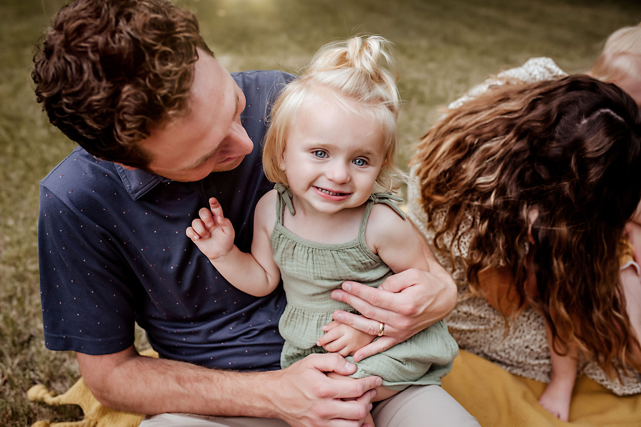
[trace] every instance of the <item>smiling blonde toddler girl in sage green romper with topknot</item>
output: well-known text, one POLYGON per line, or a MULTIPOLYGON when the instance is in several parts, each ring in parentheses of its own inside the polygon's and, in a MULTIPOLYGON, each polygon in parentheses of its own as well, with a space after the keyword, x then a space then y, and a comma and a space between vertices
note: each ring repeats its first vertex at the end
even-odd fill
MULTIPOLYGON (((419 237, 392 202, 399 199, 377 192, 398 189, 402 174, 394 164, 400 101, 386 45, 379 36, 328 44, 281 93, 263 151, 265 174, 276 186, 256 205, 251 254, 233 244, 233 227, 215 198, 187 229, 238 289, 263 296, 282 278, 283 368, 326 351, 352 360, 376 339, 351 326, 326 326, 334 310, 354 311, 329 296, 342 282, 376 287, 408 268, 428 271, 419 237)), ((384 332, 381 323, 378 335, 384 332)), ((440 384, 457 351, 440 321, 358 362, 351 376, 381 376, 376 399, 385 399, 409 385, 440 384)), ((365 423, 373 425, 370 415, 365 423)))

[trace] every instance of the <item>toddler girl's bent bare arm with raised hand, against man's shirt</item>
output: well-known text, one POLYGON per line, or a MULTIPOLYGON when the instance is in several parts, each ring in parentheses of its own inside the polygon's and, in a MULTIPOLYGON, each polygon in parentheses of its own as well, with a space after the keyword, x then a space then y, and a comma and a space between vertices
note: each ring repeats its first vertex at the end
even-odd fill
POLYGON ((221 204, 213 197, 209 199, 210 209, 203 207, 198 213, 200 219, 194 220, 186 231, 229 283, 254 296, 271 293, 280 280, 268 233, 271 232, 268 224, 274 223, 269 220, 275 220, 273 193, 264 195, 256 205, 251 254, 241 252, 234 245, 231 222, 223 216, 221 204))

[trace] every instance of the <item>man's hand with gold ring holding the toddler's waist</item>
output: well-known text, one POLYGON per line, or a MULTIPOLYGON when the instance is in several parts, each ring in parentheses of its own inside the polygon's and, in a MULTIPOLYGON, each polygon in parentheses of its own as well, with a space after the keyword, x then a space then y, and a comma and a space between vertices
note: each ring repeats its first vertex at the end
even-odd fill
MULTIPOLYGON (((432 255, 433 256, 433 255, 432 255)), ((431 261, 428 259, 428 262, 431 261)), ((354 360, 365 359, 405 341, 417 332, 445 318, 456 304, 456 285, 433 260, 430 273, 410 269, 392 275, 378 288, 344 282, 331 297, 345 302, 363 316, 336 310, 333 319, 376 335, 385 323, 384 336, 356 351, 354 360)))

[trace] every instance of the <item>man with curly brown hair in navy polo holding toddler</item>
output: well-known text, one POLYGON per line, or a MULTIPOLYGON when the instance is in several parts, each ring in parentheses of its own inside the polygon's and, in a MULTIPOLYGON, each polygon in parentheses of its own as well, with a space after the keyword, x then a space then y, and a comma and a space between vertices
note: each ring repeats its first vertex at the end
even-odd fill
MULTIPOLYGON (((112 408, 245 417, 208 425, 360 426, 380 378, 328 378, 355 370, 337 354, 279 370, 281 287, 261 298, 238 291, 185 237, 213 196, 249 252, 254 207, 272 188, 260 163, 266 106, 294 76, 230 76, 196 17, 163 0, 77 0, 58 13, 34 61, 38 102, 80 145, 40 182, 47 348, 76 351, 89 389, 112 408), (160 359, 138 355, 135 321, 160 359)), ((337 319, 366 332, 385 323, 371 354, 453 307, 453 281, 429 263, 432 273, 390 277, 391 297, 358 284, 335 291, 369 314, 337 319)), ((414 393, 435 413, 469 417, 449 396, 414 393)), ((379 405, 381 425, 402 422, 397 402, 379 405)), ((153 425, 204 422, 168 416, 153 425)))

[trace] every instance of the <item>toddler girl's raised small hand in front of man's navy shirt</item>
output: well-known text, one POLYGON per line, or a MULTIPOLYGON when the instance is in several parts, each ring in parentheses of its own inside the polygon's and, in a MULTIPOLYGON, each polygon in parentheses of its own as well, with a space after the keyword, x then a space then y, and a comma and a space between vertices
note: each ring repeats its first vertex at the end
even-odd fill
POLYGON ((192 221, 192 226, 185 230, 185 234, 213 261, 231 252, 235 232, 231 221, 222 215, 218 200, 212 197, 209 204, 210 209, 203 207, 198 211, 200 219, 192 221))

